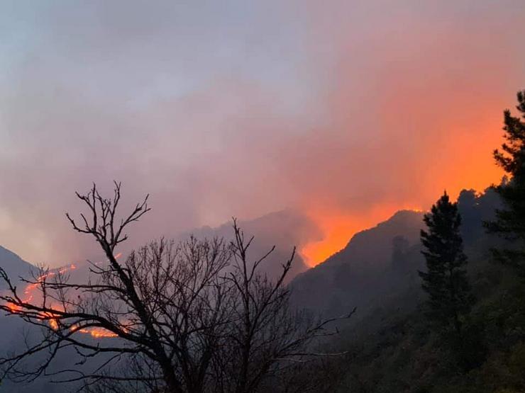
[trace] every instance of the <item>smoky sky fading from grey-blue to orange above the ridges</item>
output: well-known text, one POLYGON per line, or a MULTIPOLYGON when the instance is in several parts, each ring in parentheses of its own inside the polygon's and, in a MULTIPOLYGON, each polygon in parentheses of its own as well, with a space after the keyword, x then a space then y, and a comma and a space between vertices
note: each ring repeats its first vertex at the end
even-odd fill
POLYGON ((117 180, 150 194, 133 246, 292 209, 314 265, 499 181, 525 88, 522 0, 0 5, 0 244, 32 263, 94 255, 64 213, 117 180))

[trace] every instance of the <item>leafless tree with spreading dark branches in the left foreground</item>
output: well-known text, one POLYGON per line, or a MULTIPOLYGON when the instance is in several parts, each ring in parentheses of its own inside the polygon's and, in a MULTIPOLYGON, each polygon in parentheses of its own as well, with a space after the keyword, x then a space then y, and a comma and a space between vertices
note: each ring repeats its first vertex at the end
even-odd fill
POLYGON ((95 185, 77 197, 89 214, 80 215, 82 224, 67 218, 74 230, 96 239, 109 262, 92 263, 94 278, 84 283, 46 271, 23 280, 40 292, 31 301, 0 268, 9 288, 0 296, 0 309, 43 331, 37 343, 0 358, 2 379, 52 375, 59 382, 82 382, 92 391, 245 393, 264 389, 298 362, 327 355, 312 353, 311 343, 331 334, 326 326, 334 319, 308 319, 289 304, 283 281, 294 252, 280 277, 269 280, 260 266, 273 249, 250 261, 253 237, 246 241, 233 220, 229 243, 160 239, 121 263, 116 248, 128 239, 128 225, 150 210, 148 197, 122 218, 120 183, 111 199, 103 198, 95 185), (100 329, 109 338, 97 341, 84 334, 89 329, 100 329), (70 350, 77 368, 52 370, 57 355, 70 350), (45 356, 27 370, 24 361, 35 354, 45 356))

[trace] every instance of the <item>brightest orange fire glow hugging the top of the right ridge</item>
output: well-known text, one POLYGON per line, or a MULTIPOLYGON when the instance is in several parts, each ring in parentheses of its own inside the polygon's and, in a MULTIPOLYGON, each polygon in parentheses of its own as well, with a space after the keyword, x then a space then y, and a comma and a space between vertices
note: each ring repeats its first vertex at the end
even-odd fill
MULTIPOLYGON (((494 110, 497 113, 498 110, 494 110)), ((426 176, 417 179, 419 186, 406 201, 381 202, 364 206, 361 210, 345 210, 328 205, 313 205, 306 208, 324 234, 319 241, 311 241, 299 249, 309 266, 324 261, 328 256, 343 249, 356 232, 374 227, 387 220, 398 210, 429 210, 443 189, 452 198, 457 198, 463 189, 473 188, 481 191, 503 176, 502 169, 494 164, 492 150, 502 142, 501 117, 485 119, 484 125, 473 124, 477 137, 472 132, 458 130, 449 139, 441 152, 442 159, 436 165, 426 161, 426 176), (429 165, 430 164, 430 165, 429 165)), ((423 164, 423 163, 421 163, 423 164)), ((404 186, 411 187, 411 183, 404 186)))

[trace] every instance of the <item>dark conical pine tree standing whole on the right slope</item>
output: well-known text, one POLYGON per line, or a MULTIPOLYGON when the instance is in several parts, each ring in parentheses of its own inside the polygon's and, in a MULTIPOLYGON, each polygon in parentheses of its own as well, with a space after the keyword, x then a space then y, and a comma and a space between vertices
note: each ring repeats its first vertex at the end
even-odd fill
POLYGON ((461 217, 457 203, 445 192, 424 216, 428 232, 421 230, 426 272, 419 272, 428 293, 429 317, 443 327, 452 327, 461 336, 461 316, 470 311, 473 295, 463 266, 463 239, 459 232, 461 217))

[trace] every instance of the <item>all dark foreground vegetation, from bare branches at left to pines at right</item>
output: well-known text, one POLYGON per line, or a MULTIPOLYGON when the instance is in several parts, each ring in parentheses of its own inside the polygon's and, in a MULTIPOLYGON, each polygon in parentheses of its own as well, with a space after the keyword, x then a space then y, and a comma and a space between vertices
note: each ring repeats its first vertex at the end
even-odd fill
MULTIPOLYGON (((525 118, 525 92, 518 102, 525 118)), ((463 190, 455 203, 442 195, 423 222, 416 218, 426 224, 421 242, 411 244, 416 213, 398 213, 291 285, 284 278, 293 254, 269 280, 258 267, 272 251, 250 259, 251 239, 236 222, 231 243, 161 239, 120 263, 114 253, 123 230, 148 206, 118 221, 120 186, 112 200, 93 188, 79 195, 91 220, 70 221, 109 259, 92 267, 99 280, 28 280, 42 300, 26 302, 0 269, 10 292, 0 309, 45 332, 1 360, 4 375, 37 377, 72 347, 82 366, 104 361, 95 371, 55 375, 68 371, 67 380, 85 381, 89 392, 525 392, 524 120, 505 111, 504 131, 494 158, 509 178, 482 193, 463 190), (385 254, 380 242, 391 246, 391 260, 371 266, 370 258, 385 254), (347 263, 350 253, 361 265, 347 263), (347 320, 353 312, 321 320, 295 310, 315 304, 329 316, 358 295, 365 309, 358 321, 347 320), (341 334, 331 336, 329 323, 341 334), (93 327, 115 340, 77 334, 93 327), (48 356, 35 370, 21 368, 35 353, 48 356)))

